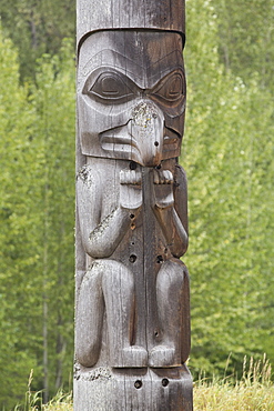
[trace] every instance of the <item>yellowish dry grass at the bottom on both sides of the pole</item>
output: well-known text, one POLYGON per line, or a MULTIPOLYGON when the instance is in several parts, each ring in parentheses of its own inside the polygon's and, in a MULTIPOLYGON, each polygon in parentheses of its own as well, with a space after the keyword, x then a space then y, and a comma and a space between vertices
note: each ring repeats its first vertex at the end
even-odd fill
MULTIPOLYGON (((274 411, 274 384, 271 380, 271 365, 264 357, 243 364, 243 377, 235 381, 234 375, 223 379, 201 378, 194 383, 194 411, 274 411)), ((72 411, 72 394, 59 392, 48 404, 42 405, 41 392, 30 390, 30 375, 26 404, 14 411, 72 411)))

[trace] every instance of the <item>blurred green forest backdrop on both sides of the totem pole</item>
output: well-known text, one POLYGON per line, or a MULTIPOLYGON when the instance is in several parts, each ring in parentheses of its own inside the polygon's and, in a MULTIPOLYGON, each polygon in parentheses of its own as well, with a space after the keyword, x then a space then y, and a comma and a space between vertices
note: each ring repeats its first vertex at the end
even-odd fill
MULTIPOLYGON (((72 388, 74 0, 0 0, 0 409, 72 388)), ((274 1, 186 0, 194 377, 274 363, 274 1), (229 359, 229 360, 227 360, 229 359)))

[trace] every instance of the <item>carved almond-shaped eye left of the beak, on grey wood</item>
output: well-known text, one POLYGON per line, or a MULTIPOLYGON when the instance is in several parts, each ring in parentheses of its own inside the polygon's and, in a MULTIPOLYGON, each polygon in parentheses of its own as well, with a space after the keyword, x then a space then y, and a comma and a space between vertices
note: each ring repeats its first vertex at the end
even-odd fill
POLYGON ((132 90, 123 81, 122 77, 113 72, 102 73, 94 84, 88 90, 88 94, 110 101, 123 102, 122 100, 133 94, 132 90), (120 101, 121 100, 121 101, 120 101))

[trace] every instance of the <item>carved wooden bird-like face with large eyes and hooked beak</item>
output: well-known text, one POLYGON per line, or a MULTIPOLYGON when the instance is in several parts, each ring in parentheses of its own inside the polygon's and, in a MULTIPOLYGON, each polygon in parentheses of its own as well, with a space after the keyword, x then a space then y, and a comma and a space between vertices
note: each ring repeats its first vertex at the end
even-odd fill
POLYGON ((82 153, 156 166, 180 156, 185 79, 181 36, 102 31, 80 49, 82 153))

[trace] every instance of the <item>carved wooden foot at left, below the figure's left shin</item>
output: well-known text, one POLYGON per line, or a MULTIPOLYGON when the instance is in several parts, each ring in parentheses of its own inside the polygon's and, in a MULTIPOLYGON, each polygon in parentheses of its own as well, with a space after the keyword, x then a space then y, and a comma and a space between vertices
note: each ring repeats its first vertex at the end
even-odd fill
POLYGON ((148 351, 143 347, 130 345, 115 354, 113 368, 148 367, 148 351))

